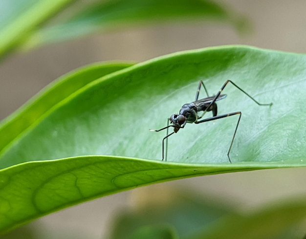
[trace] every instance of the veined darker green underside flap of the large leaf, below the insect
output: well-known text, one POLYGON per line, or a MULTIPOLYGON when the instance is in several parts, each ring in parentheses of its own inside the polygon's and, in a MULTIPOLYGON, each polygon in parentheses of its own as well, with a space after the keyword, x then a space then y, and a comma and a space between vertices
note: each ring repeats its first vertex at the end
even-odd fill
POLYGON ((224 170, 232 171, 222 166, 167 164, 114 156, 80 156, 19 164, 0 171, 0 234, 78 202, 153 182, 224 170))

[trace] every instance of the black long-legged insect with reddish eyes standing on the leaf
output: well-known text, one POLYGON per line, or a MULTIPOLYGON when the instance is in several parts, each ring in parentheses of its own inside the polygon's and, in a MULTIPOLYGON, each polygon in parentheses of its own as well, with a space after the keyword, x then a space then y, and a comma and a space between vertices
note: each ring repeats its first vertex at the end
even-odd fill
POLYGON ((170 135, 174 134, 174 133, 177 133, 177 131, 179 129, 183 129, 185 127, 186 123, 199 124, 199 123, 208 122, 208 121, 212 121, 212 120, 216 120, 216 119, 221 119, 221 118, 225 118, 225 117, 228 117, 228 116, 239 114, 237 125, 236 125, 235 131, 234 131, 234 135, 233 135, 230 147, 229 147, 228 152, 227 152, 228 160, 229 160, 230 163, 232 162, 231 159, 230 159, 229 153, 231 151, 231 148, 232 148, 232 145, 233 145, 233 141, 234 141, 234 138, 235 138, 235 134, 236 134, 236 131, 237 131, 237 128, 238 128, 238 125, 239 125, 239 121, 240 121, 240 118, 241 118, 241 112, 237 111, 237 112, 232 112, 232 113, 218 115, 218 108, 217 108, 217 103, 216 103, 216 101, 224 99, 226 97, 226 94, 221 94, 221 92, 222 92, 224 87, 226 87, 226 85, 229 82, 232 83, 238 89, 240 89, 249 98, 251 98, 257 105, 259 105, 259 106, 271 106, 272 105, 272 103, 270 103, 270 104, 261 104, 261 103, 259 103, 252 96, 250 96, 248 93, 246 93, 243 89, 238 87, 234 82, 232 82, 230 80, 227 80, 223 84, 223 86, 219 89, 219 91, 218 91, 218 93, 216 95, 208 96, 208 92, 207 92, 207 89, 206 89, 203 81, 200 81, 199 85, 197 87, 196 99, 195 99, 194 102, 191 102, 191 103, 188 103, 188 104, 184 104, 182 106, 182 108, 179 110, 178 114, 171 115, 170 118, 168 118, 168 124, 167 124, 166 127, 162 128, 160 130, 150 130, 150 131, 158 132, 158 131, 167 129, 167 135, 163 138, 163 141, 162 141, 162 155, 163 155, 162 160, 164 160, 164 158, 165 158, 165 161, 167 161, 168 137, 170 135), (206 92, 208 97, 198 100, 198 95, 199 95, 201 86, 204 87, 205 92, 206 92), (198 112, 200 112, 200 111, 203 111, 203 112, 199 115, 198 112), (209 117, 209 118, 206 118, 206 119, 199 120, 208 111, 212 111, 213 116, 209 117), (170 125, 169 125, 169 121, 171 123, 170 125), (170 127, 173 127, 174 129, 173 129, 172 133, 168 134, 168 129, 170 127), (166 157, 164 157, 164 151, 165 151, 164 150, 165 149, 164 141, 165 141, 165 139, 166 139, 166 157))

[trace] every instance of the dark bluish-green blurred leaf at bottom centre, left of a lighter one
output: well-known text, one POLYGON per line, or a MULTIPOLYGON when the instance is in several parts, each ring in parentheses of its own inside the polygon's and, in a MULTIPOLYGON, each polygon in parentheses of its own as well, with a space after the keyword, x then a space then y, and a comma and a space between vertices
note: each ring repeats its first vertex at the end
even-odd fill
POLYGON ((110 239, 131 239, 137 231, 154 225, 171 225, 180 239, 189 239, 202 232, 205 225, 234 213, 225 202, 188 190, 150 187, 135 197, 141 198, 140 202, 136 200, 136 208, 118 212, 110 239))

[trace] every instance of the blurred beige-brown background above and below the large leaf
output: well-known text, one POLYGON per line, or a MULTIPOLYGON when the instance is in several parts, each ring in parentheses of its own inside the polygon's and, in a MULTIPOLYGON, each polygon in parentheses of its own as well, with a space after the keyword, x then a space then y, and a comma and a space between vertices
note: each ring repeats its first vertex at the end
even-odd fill
MULTIPOLYGON (((164 54, 225 44, 306 52, 305 0, 218 0, 245 16, 251 31, 240 34, 224 22, 149 24, 95 34, 73 41, 14 53, 0 64, 0 120, 40 89, 77 67, 94 62, 142 62, 164 54)), ((240 210, 286 196, 305 195, 306 169, 281 169, 201 176, 146 186, 99 198, 42 217, 20 230, 37 238, 100 239, 122 208, 133 207, 150 187, 188 188, 228 200, 240 210)))

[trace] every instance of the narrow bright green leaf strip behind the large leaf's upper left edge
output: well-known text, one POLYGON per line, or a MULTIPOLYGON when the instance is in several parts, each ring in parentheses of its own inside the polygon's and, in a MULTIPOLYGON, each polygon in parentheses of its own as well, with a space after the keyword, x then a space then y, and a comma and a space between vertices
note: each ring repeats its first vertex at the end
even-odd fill
POLYGON ((65 101, 70 94, 97 78, 131 65, 131 63, 115 62, 96 63, 78 68, 60 77, 1 122, 0 152, 52 107, 65 101))

